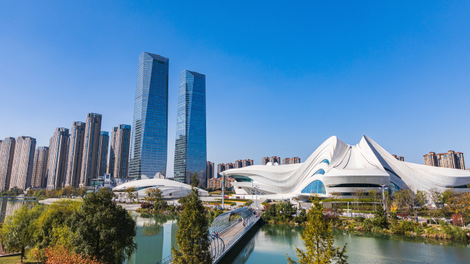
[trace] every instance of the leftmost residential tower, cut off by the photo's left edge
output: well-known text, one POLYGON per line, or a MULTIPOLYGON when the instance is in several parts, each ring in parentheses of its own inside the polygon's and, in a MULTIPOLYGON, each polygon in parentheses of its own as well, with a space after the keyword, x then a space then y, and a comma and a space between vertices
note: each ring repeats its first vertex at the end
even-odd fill
POLYGON ((11 137, 0 142, 0 191, 10 187, 15 143, 11 137))

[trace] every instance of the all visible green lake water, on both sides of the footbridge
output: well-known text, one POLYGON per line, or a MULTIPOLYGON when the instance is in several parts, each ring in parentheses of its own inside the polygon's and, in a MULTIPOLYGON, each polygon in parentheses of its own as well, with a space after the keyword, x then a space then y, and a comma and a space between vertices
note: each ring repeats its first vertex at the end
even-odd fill
MULTIPOLYGON (((36 202, 0 199, 0 218, 36 202)), ((177 219, 164 215, 142 217, 133 213, 137 221, 137 252, 127 264, 154 264, 168 256, 171 245, 176 247, 177 219)), ((254 226, 234 248, 221 259, 221 264, 278 264, 287 263, 286 254, 296 259, 295 245, 302 248, 302 227, 254 226)), ((406 237, 373 233, 352 233, 335 230, 335 245, 348 243, 348 263, 470 263, 468 243, 442 243, 406 237)))

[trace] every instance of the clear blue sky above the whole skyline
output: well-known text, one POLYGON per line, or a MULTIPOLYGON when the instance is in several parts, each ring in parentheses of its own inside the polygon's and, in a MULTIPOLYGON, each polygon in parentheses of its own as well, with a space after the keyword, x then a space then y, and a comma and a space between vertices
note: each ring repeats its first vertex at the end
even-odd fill
POLYGON ((87 112, 132 124, 148 51, 170 58, 169 176, 185 69, 207 78, 214 163, 303 161, 363 134, 414 163, 470 159, 468 1, 128 2, 0 1, 1 138, 48 145, 87 112))

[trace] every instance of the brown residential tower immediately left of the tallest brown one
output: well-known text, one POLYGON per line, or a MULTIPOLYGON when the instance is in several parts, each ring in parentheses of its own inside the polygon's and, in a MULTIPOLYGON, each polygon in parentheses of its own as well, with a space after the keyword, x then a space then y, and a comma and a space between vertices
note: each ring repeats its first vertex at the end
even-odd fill
POLYGON ((67 157, 67 172, 65 186, 78 188, 82 171, 83 142, 85 141, 84 122, 74 122, 70 132, 69 156, 67 157))

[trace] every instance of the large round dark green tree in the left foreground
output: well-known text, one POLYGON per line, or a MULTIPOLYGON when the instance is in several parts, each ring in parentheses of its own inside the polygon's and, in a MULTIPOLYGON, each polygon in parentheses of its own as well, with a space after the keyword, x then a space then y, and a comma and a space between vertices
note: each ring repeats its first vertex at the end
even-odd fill
POLYGON ((111 201, 112 197, 111 192, 90 193, 69 217, 74 252, 122 263, 137 250, 136 223, 126 209, 111 201))

